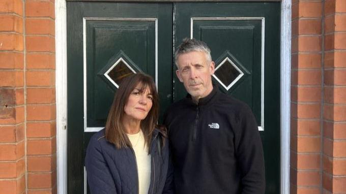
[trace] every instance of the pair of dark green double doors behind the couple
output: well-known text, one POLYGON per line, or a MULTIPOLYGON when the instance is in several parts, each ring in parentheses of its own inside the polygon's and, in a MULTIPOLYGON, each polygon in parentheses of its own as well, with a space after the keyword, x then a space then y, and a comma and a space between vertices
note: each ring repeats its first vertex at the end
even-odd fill
POLYGON ((184 98, 173 48, 185 37, 207 42, 214 83, 252 108, 262 130, 267 193, 278 193, 279 12, 279 3, 68 2, 68 193, 87 190, 85 149, 104 126, 123 77, 155 78, 161 115, 184 98))

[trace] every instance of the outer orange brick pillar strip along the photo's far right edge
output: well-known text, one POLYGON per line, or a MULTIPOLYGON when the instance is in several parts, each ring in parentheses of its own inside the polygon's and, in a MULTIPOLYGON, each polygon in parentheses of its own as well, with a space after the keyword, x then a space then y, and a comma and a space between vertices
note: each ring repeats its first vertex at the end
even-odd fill
POLYGON ((346 0, 325 1, 323 189, 346 193, 346 0))

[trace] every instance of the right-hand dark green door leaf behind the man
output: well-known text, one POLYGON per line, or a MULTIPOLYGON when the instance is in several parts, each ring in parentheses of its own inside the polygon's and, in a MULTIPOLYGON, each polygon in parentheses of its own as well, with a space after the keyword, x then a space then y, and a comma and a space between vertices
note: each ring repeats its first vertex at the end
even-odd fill
MULTIPOLYGON (((247 103, 256 117, 265 154, 266 193, 279 193, 280 3, 175 5, 175 45, 186 37, 208 44, 219 69, 214 84, 247 103)), ((175 100, 184 98, 186 91, 176 77, 174 85, 175 100)))

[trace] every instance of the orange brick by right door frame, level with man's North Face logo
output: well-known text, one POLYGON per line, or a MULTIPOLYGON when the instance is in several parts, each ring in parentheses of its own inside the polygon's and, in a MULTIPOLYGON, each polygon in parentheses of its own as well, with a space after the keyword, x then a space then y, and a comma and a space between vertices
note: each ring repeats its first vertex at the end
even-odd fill
POLYGON ((297 120, 297 135, 299 136, 318 136, 320 135, 319 120, 297 120))

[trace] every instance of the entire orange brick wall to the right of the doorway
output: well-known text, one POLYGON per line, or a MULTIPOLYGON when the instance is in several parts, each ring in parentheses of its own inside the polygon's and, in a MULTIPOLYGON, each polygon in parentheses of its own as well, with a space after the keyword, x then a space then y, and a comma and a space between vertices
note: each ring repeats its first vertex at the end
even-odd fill
POLYGON ((346 193, 346 0, 292 1, 291 193, 346 193))

